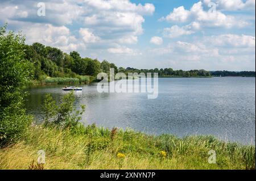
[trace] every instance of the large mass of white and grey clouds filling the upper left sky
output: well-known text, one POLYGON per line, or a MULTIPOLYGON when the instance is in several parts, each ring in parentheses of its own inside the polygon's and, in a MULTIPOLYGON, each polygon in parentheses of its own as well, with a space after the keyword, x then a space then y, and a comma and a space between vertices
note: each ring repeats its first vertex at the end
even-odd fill
POLYGON ((143 33, 144 16, 155 11, 151 3, 142 5, 129 0, 43 2, 46 16, 37 15, 38 2, 1 1, 0 22, 8 22, 17 31, 23 30, 28 43, 36 41, 64 49, 88 48, 98 44, 98 47, 108 50, 123 44, 136 44, 138 36, 143 33), (67 32, 64 27, 72 28, 67 32), (47 34, 57 30, 60 30, 59 34, 47 34))

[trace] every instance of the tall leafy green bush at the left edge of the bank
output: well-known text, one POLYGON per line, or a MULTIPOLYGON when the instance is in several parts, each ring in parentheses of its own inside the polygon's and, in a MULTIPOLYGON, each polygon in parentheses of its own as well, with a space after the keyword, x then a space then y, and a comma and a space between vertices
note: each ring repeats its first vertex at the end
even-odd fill
POLYGON ((23 106, 24 86, 34 67, 25 57, 24 37, 0 29, 0 146, 18 140, 31 123, 23 106))

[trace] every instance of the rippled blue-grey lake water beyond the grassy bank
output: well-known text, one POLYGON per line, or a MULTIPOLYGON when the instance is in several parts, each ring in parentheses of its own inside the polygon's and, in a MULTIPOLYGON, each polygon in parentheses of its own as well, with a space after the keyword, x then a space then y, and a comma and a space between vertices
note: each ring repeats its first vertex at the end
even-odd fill
MULTIPOLYGON (((28 89, 27 112, 42 120, 47 93, 59 101, 63 86, 28 89)), ((76 92, 75 106, 86 104, 82 121, 132 128, 150 134, 214 135, 255 145, 255 78, 159 78, 157 99, 145 93, 98 93, 97 85, 76 92)))

